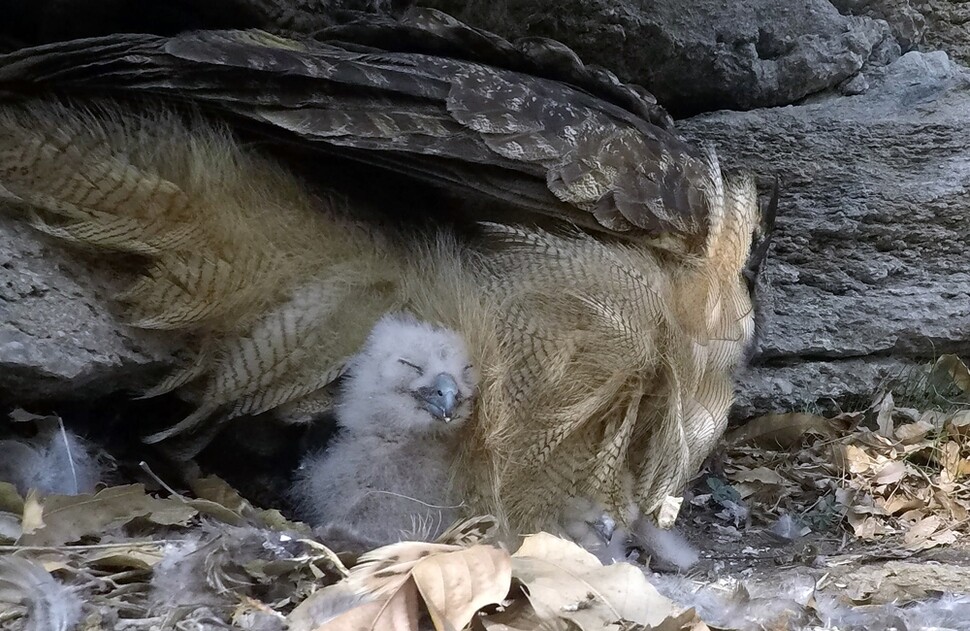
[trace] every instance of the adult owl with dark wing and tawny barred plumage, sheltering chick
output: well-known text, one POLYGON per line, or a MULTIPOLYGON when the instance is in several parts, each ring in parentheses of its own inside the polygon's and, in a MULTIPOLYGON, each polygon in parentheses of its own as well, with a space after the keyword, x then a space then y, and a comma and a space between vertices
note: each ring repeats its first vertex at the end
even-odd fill
POLYGON ((215 421, 324 405, 374 323, 404 310, 459 333, 481 370, 450 477, 468 512, 520 532, 577 497, 651 515, 726 423, 767 235, 753 179, 561 45, 409 15, 317 39, 118 35, 0 57, 0 88, 73 95, 2 105, 0 198, 59 239, 145 257, 129 321, 198 350, 152 392, 199 401, 152 437, 201 432, 183 455, 215 421), (316 175, 346 198, 312 194, 216 116, 487 203, 388 221, 443 209, 375 214, 336 171, 316 175))

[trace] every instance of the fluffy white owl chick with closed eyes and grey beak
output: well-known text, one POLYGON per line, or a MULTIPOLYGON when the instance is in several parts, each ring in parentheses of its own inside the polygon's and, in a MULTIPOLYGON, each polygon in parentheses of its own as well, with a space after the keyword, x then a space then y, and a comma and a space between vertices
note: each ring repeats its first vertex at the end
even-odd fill
POLYGON ((348 364, 337 437, 300 465, 293 496, 302 517, 348 550, 436 537, 458 517, 449 469, 476 388, 457 333, 382 318, 348 364))

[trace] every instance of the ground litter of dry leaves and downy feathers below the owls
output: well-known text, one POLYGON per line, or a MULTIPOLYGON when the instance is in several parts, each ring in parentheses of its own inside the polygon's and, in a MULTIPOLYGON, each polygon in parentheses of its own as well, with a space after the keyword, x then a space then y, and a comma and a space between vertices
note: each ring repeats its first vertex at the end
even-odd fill
POLYGON ((676 526, 701 550, 686 574, 547 533, 510 550, 485 517, 354 558, 214 476, 0 482, 0 628, 967 629, 970 373, 944 356, 915 390, 729 432, 676 526))

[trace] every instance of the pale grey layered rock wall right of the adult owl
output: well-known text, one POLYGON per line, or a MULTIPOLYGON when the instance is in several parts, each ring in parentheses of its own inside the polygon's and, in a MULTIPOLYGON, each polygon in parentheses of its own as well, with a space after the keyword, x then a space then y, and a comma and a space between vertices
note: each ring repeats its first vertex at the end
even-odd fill
POLYGON ((833 407, 970 354, 970 70, 907 53, 860 96, 682 121, 781 184, 738 416, 833 407))

